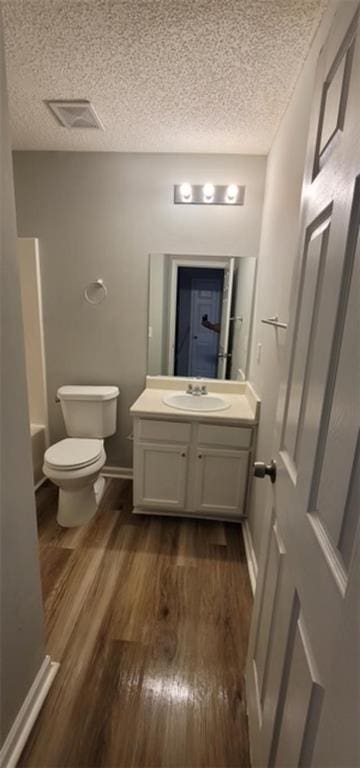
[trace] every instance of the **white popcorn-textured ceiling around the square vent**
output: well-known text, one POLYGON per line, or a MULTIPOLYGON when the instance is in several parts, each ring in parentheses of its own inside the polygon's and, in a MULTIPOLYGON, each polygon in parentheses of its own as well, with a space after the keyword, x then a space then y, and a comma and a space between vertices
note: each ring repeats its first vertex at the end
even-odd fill
POLYGON ((17 149, 266 153, 326 0, 2 0, 17 149), (44 99, 90 99, 104 132, 44 99))

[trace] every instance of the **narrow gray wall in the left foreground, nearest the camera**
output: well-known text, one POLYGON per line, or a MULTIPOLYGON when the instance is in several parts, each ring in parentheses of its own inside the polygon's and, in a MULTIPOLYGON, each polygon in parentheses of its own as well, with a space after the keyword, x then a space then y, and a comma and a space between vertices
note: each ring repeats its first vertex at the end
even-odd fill
POLYGON ((44 659, 0 9, 1 744, 44 659))

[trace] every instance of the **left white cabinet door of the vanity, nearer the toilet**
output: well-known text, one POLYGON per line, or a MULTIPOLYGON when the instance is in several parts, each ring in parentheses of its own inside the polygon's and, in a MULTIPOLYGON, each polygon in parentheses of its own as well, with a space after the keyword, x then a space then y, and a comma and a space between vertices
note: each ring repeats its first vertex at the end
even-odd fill
POLYGON ((183 510, 187 457, 186 445, 137 443, 134 455, 135 506, 183 510))

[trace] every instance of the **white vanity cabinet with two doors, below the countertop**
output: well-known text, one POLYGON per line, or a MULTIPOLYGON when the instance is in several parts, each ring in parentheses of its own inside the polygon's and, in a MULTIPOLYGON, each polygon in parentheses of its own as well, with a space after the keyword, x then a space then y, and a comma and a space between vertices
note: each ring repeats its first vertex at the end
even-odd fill
POLYGON ((255 427, 134 420, 134 512, 240 519, 255 427))

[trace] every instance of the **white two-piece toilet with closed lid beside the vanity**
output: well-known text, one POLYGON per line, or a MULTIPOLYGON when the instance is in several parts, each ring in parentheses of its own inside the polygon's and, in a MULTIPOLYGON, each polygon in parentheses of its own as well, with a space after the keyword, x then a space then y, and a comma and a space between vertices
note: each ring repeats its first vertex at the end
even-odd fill
POLYGON ((103 438, 116 431, 119 389, 64 386, 57 394, 69 437, 45 451, 43 473, 59 486, 59 525, 73 528, 91 520, 104 490, 103 438))

